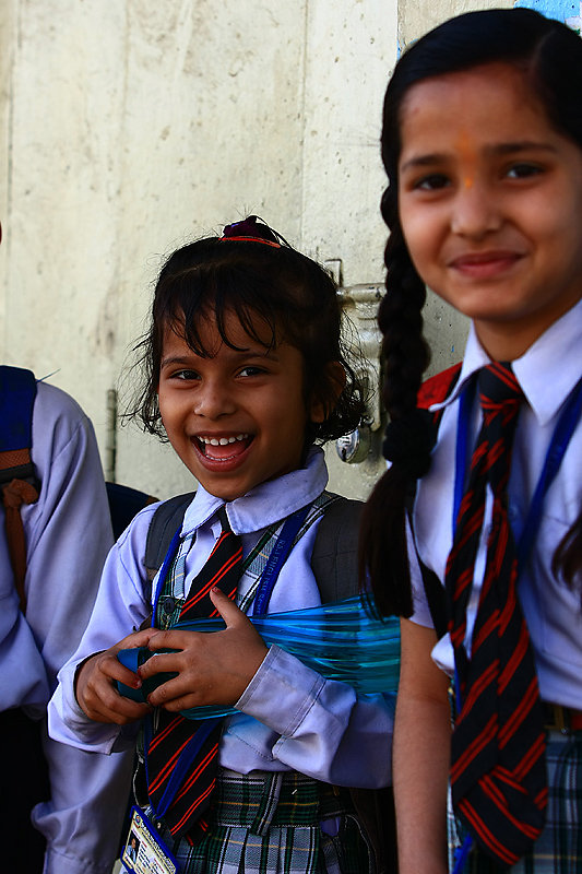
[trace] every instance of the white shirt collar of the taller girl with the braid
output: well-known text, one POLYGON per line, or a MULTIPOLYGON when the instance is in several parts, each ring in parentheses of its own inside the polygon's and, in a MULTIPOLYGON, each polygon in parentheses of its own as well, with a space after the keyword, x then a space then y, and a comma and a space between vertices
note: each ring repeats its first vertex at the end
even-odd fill
MULTIPOLYGON (((551 421, 582 376, 581 343, 582 299, 513 362, 513 373, 542 426, 551 421)), ((459 380, 449 398, 430 410, 454 403, 473 374, 490 361, 472 323, 459 380)))

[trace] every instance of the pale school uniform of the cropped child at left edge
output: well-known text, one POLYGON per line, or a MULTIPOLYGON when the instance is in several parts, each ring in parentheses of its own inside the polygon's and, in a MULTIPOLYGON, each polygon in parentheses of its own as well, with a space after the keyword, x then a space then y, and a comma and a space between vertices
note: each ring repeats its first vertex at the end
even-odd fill
MULTIPOLYGON (((22 507, 25 614, 19 607, 0 521, 0 723, 4 720, 12 729, 20 724, 23 731, 28 730, 28 718, 46 721, 57 671, 79 645, 112 542, 91 422, 72 398, 44 382, 37 386, 34 404, 32 459, 41 487, 38 500, 22 507)), ((11 752, 3 748, 7 766, 12 764, 11 752)), ((50 789, 32 818, 47 840, 45 874, 108 874, 129 792, 130 757, 87 755, 49 739, 46 731, 43 753, 50 789)), ((17 768, 21 783, 26 764, 17 768)), ((3 782, 0 834, 5 864, 15 842, 7 822, 11 791, 3 782)), ((14 851, 22 863, 19 848, 14 851)))

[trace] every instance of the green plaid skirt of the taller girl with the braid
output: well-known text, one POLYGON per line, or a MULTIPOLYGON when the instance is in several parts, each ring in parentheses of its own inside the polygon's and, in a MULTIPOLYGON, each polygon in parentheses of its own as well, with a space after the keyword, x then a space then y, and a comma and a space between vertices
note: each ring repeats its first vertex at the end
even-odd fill
MULTIPOLYGON (((463 874, 582 874, 582 732, 549 732, 546 766, 549 788, 546 826, 533 850, 508 869, 474 849, 463 874)), ((450 848, 459 846, 459 830, 449 817, 450 848)), ((451 853, 449 866, 452 871, 451 853)))

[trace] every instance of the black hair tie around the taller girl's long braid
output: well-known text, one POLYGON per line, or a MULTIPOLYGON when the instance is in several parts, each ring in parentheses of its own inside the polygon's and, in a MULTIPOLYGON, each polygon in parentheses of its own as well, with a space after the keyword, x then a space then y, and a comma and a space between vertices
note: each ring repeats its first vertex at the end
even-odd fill
POLYGON ((430 468, 430 453, 437 439, 432 414, 415 408, 402 418, 389 422, 382 453, 412 480, 419 480, 430 468))

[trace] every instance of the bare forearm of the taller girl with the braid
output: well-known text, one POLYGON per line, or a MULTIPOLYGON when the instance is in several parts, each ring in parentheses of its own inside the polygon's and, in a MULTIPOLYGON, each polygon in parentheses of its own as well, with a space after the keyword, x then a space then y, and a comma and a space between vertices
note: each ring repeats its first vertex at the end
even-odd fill
POLYGON ((394 795, 401 874, 446 874, 451 744, 449 680, 430 657, 432 628, 403 619, 394 724, 394 795))

